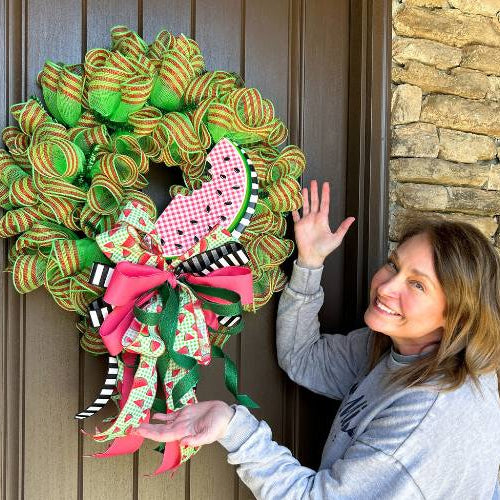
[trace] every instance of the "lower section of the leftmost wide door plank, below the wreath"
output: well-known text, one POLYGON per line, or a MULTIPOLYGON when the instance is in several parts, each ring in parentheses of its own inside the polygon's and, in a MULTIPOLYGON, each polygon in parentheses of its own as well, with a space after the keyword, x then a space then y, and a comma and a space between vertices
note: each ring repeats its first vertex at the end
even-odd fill
POLYGON ((45 290, 26 297, 25 495, 76 498, 78 336, 45 290), (47 481, 47 471, 57 481, 47 481))

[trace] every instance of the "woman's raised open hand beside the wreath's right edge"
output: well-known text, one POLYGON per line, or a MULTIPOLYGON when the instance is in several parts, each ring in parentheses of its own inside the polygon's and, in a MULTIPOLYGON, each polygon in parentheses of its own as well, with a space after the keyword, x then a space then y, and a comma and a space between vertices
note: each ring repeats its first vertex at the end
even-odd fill
POLYGON ((302 189, 302 217, 297 210, 292 212, 295 223, 295 241, 299 252, 297 263, 304 267, 320 267, 328 254, 340 246, 347 230, 354 222, 348 217, 332 233, 328 222, 330 205, 330 185, 323 183, 321 200, 318 197, 318 183, 311 181, 311 199, 309 191, 302 189))

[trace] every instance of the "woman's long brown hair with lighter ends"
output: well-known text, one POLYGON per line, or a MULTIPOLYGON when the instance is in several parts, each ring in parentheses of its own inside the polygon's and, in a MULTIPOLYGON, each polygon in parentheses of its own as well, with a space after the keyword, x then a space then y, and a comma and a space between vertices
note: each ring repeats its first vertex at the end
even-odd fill
MULTIPOLYGON (((392 382, 406 387, 432 380, 442 390, 460 387, 468 376, 478 385, 484 373, 500 375, 500 257, 474 226, 445 219, 412 221, 399 245, 428 236, 434 269, 446 296, 439 347, 399 370, 392 382)), ((390 349, 390 337, 372 335, 370 369, 390 349)), ((500 390, 500 377, 499 377, 500 390)))

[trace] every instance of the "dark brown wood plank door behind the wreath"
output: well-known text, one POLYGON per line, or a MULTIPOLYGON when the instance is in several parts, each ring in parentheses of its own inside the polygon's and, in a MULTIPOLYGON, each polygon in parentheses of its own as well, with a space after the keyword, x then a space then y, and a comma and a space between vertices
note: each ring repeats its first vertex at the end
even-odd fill
MULTIPOLYGON (((86 50, 109 45, 114 25, 137 30, 148 43, 164 28, 190 35, 207 68, 241 74, 247 87, 274 102, 289 142, 306 152, 304 184, 319 178, 333 185, 332 224, 347 212, 358 218, 324 277, 323 327, 348 330, 360 321, 367 277, 386 240, 387 3, 374 9, 366 0, 2 0, 0 126, 12 123, 11 104, 40 95, 36 75, 46 58, 79 62, 86 50)), ((173 170, 153 170, 149 192, 159 205, 176 178, 173 170)), ((73 415, 98 391, 104 360, 79 350, 74 316, 45 291, 20 297, 8 275, 0 279, 2 498, 252 498, 219 445, 204 447, 173 478, 145 477, 159 461, 152 445, 134 456, 84 458, 101 447, 82 437, 73 415)), ((228 351, 240 389, 261 405, 255 414, 315 467, 335 405, 298 391, 277 366, 276 305, 277 297, 247 314, 245 331, 228 351)), ((220 364, 204 372, 198 394, 231 401, 220 364)), ((97 424, 88 419, 84 428, 97 424)))

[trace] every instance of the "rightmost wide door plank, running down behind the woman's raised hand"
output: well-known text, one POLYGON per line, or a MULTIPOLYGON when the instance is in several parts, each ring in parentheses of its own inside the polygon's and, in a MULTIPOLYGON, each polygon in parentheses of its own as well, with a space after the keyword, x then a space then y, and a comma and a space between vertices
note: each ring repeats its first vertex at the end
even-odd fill
MULTIPOLYGON (((304 150, 309 168, 304 181, 318 178, 332 184, 330 222, 337 227, 345 213, 345 164, 349 69, 349 2, 329 0, 306 4, 304 150)), ((331 329, 342 317, 342 247, 328 258, 324 280, 330 299, 322 311, 331 329)))

